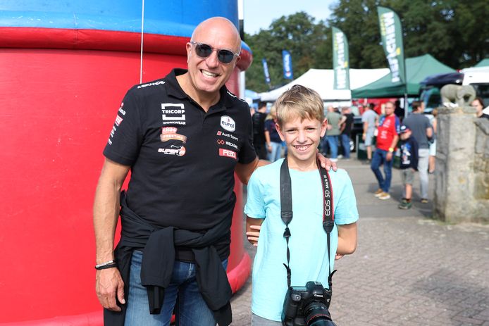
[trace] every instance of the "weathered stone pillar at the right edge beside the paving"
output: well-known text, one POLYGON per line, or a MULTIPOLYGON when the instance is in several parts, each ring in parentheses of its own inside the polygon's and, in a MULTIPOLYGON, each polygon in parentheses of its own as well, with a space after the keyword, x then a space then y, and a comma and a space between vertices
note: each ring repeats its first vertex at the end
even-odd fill
POLYGON ((489 222, 489 119, 475 108, 438 108, 435 218, 489 222))

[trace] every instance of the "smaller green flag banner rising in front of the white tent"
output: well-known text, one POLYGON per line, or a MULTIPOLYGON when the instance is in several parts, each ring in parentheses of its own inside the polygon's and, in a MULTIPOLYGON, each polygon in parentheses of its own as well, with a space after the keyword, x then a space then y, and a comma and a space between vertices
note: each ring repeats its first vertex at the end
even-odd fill
POLYGON ((333 89, 349 89, 348 39, 340 29, 333 27, 333 89))

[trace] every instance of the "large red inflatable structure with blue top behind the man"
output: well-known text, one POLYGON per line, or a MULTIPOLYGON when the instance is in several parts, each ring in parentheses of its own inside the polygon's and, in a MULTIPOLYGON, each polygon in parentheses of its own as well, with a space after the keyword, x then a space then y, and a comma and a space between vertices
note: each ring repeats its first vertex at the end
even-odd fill
MULTIPOLYGON (((97 1, 60 1, 61 8, 50 11, 43 7, 46 1, 12 2, 20 4, 0 13, 0 325, 101 325, 92 203, 117 108, 140 82, 141 33, 94 23, 89 14, 104 18, 100 6, 109 6, 97 1), (66 17, 73 15, 68 7, 77 19, 66 27, 66 17)), ((161 14, 159 2, 147 1, 146 11, 153 7, 158 11, 153 15, 161 14)), ((223 15, 237 23, 234 1, 216 2, 204 11, 194 2, 167 4, 163 22, 150 21, 186 24, 180 35, 145 31, 142 82, 186 66, 185 44, 200 21, 223 15)), ((128 7, 125 14, 105 8, 112 14, 107 20, 127 24, 133 4, 118 1, 128 7)), ((237 74, 251 61, 244 44, 227 84, 231 92, 238 94, 237 74)), ((242 244, 242 184, 237 179, 236 184, 228 265, 233 291, 250 270, 242 244)))

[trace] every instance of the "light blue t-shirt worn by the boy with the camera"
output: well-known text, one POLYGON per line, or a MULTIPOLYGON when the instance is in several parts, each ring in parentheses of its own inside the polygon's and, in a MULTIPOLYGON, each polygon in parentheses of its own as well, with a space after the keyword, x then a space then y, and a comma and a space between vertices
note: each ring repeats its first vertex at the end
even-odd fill
MULTIPOLYGON (((269 320, 281 320, 287 292, 287 244, 285 224, 280 218, 280 165, 283 159, 258 168, 248 182, 244 213, 250 218, 264 218, 253 264, 252 312, 269 320)), ((323 229, 323 187, 318 170, 301 172, 289 169, 292 182, 292 222, 290 268, 292 286, 304 287, 318 281, 328 287, 328 264, 335 262, 338 248, 336 225, 358 220, 357 202, 352 182, 345 170, 330 171, 333 186, 335 227, 330 234, 330 261, 323 229)))

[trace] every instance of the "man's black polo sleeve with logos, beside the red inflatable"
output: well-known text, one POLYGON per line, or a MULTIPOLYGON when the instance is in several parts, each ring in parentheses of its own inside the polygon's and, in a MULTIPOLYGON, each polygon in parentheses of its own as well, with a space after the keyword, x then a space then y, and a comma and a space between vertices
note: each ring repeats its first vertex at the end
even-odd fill
POLYGON ((132 165, 142 144, 140 108, 131 91, 125 95, 116 115, 104 156, 111 161, 132 165))

